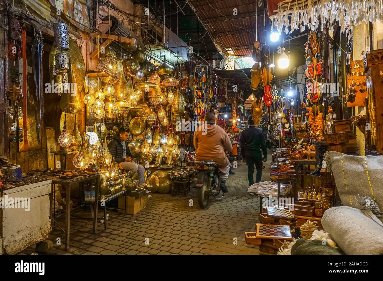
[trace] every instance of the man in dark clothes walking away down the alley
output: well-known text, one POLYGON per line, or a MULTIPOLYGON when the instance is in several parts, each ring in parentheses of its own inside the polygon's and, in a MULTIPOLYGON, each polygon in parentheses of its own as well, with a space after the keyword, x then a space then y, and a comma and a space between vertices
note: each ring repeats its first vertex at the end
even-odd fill
POLYGON ((245 129, 241 133, 239 138, 241 145, 241 154, 243 161, 247 162, 247 168, 249 169, 249 185, 254 184, 254 165, 257 169, 257 178, 255 182, 260 182, 262 177, 262 153, 263 161, 267 161, 267 149, 265 143, 265 136, 260 128, 255 127, 254 120, 249 120, 249 128, 245 129))

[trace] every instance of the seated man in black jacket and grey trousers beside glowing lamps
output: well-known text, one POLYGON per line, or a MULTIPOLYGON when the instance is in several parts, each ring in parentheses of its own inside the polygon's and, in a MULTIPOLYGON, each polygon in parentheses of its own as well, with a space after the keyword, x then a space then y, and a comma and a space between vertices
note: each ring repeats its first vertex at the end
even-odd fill
POLYGON ((129 139, 129 132, 124 128, 118 130, 117 135, 108 144, 108 149, 115 162, 119 163, 120 169, 127 170, 130 177, 137 172, 140 184, 145 183, 145 168, 140 164, 133 162, 132 154, 130 153, 127 140, 129 139))

